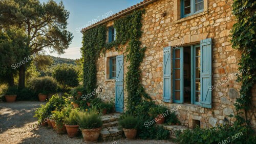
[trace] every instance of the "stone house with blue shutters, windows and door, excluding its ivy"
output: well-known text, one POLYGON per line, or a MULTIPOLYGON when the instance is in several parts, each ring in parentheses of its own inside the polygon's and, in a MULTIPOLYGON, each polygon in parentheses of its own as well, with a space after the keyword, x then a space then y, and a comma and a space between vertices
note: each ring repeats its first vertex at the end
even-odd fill
MULTIPOLYGON (((99 24, 109 27, 107 42, 115 40, 114 20, 136 9, 145 9, 142 20, 141 63, 145 92, 160 105, 180 105, 176 114, 183 125, 215 127, 234 114, 241 84, 236 82, 239 51, 231 48, 230 30, 235 23, 231 0, 145 0, 82 31, 99 24)), ((115 101, 116 111, 125 111, 125 46, 114 47, 97 62, 99 97, 115 101), (116 80, 118 78, 118 80, 116 80)), ((256 87, 253 101, 256 103, 256 87)), ((252 121, 255 126, 255 119, 252 121)))

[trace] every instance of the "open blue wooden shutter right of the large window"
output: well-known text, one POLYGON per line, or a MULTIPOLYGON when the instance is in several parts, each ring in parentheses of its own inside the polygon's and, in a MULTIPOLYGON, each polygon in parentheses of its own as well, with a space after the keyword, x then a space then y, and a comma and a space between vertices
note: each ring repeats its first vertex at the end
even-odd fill
POLYGON ((200 69, 200 103, 202 107, 211 108, 211 38, 201 40, 201 69, 200 69))

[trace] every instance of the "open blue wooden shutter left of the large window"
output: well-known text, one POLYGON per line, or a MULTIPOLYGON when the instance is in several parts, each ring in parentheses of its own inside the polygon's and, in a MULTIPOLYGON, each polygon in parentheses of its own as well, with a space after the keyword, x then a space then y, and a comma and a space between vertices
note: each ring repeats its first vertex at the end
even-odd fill
POLYGON ((170 47, 165 47, 163 49, 163 101, 170 102, 170 94, 172 92, 170 87, 170 47))

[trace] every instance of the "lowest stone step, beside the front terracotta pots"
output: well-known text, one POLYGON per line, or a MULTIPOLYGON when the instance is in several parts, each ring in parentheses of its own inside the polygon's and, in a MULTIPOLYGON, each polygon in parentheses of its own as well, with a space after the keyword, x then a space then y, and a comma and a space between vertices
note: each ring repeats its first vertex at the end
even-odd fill
POLYGON ((122 130, 117 126, 103 128, 100 132, 100 139, 103 141, 116 140, 122 138, 122 130))

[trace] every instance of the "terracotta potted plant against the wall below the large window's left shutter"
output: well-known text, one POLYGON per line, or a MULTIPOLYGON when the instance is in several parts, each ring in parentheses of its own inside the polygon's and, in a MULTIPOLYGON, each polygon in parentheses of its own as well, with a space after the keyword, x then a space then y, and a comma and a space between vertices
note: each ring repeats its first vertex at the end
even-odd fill
POLYGON ((165 121, 165 113, 167 110, 166 107, 163 106, 154 106, 150 108, 150 111, 148 112, 151 116, 155 118, 156 124, 163 124, 165 121))

